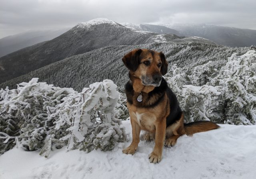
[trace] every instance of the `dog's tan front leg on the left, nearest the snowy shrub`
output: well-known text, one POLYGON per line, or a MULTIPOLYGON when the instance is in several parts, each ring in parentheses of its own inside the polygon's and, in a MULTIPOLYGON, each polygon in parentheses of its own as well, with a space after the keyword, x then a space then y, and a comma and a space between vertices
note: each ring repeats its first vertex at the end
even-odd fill
POLYGON ((132 124, 132 143, 129 147, 123 149, 123 153, 126 154, 134 154, 138 148, 138 144, 140 142, 140 126, 131 116, 131 124, 132 124))

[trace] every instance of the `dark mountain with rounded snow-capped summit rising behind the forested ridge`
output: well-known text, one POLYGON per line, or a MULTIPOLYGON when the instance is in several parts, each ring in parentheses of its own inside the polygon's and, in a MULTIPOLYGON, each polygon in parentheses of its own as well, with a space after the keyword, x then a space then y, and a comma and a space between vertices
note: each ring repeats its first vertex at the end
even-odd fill
POLYGON ((27 74, 64 58, 106 46, 138 45, 152 42, 213 42, 174 34, 136 32, 105 18, 80 23, 45 43, 13 52, 0 58, 0 83, 27 74))

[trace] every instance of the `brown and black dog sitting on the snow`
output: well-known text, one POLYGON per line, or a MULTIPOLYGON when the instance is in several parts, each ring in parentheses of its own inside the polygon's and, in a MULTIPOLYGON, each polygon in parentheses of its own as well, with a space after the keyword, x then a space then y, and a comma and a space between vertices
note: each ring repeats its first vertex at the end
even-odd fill
POLYGON ((176 95, 162 77, 167 73, 168 62, 162 52, 136 49, 126 54, 122 61, 130 70, 130 81, 125 86, 127 107, 132 124, 132 143, 123 153, 134 154, 140 142, 140 131, 146 131, 144 140, 155 139, 149 155, 151 163, 162 159, 163 145, 173 146, 178 137, 217 129, 210 121, 184 124, 184 115, 176 95))

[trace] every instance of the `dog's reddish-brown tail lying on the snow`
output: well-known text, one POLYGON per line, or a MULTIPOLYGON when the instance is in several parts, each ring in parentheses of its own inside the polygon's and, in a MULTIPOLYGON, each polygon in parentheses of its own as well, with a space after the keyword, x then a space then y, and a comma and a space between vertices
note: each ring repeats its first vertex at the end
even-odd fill
POLYGON ((184 129, 186 135, 192 135, 197 132, 210 131, 212 129, 218 129, 220 126, 211 121, 196 121, 190 123, 184 123, 184 129))

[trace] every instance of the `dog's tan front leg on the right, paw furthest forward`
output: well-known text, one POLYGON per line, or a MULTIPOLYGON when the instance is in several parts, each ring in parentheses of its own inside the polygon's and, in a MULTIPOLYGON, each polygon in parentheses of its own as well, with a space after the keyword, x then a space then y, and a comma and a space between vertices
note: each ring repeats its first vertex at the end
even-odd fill
POLYGON ((157 121, 156 123, 156 139, 155 139, 155 147, 152 153, 149 155, 150 163, 158 163, 162 160, 162 151, 165 139, 165 131, 166 131, 166 119, 162 119, 161 121, 157 121))

